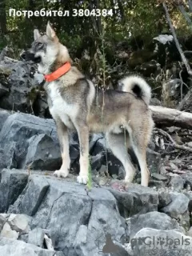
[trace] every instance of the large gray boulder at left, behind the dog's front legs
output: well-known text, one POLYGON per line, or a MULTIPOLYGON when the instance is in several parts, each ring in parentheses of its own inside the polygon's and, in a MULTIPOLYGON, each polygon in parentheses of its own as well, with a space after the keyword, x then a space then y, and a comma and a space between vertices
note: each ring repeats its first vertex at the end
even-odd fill
MULTIPOLYGON (((78 158, 78 154, 77 142, 72 142, 70 144, 71 162, 78 158)), ((0 132, 0 168, 22 169, 26 167, 26 162, 30 163, 33 158, 35 169, 39 166, 48 170, 60 168, 61 154, 59 153, 58 136, 54 121, 30 114, 17 113, 10 115, 0 132), (37 134, 41 136, 37 137, 37 134), (33 143, 30 145, 31 139, 33 143), (45 146, 50 147, 51 158, 49 154, 46 155, 46 149, 43 150, 45 146), (34 148, 31 150, 31 147, 34 148), (39 150, 42 150, 41 154, 39 150)))

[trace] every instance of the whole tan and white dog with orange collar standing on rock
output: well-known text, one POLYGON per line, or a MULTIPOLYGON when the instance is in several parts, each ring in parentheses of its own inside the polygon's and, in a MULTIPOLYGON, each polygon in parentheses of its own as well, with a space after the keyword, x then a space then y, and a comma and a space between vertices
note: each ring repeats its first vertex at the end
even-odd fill
POLYGON ((22 54, 26 60, 38 63, 38 72, 45 75, 50 114, 54 118, 62 151, 62 166, 54 175, 66 178, 70 170, 69 130, 77 130, 80 142, 80 172, 78 182, 86 184, 89 168, 89 133, 105 133, 113 154, 125 168, 125 182, 134 179, 134 166, 127 149, 138 158, 142 186, 148 186, 146 146, 154 122, 148 108, 150 86, 137 75, 123 78, 122 90, 96 90, 72 61, 48 22, 46 34, 34 30, 30 50, 22 54), (126 133, 125 133, 126 131, 126 133), (125 136, 126 134, 126 136, 125 136))

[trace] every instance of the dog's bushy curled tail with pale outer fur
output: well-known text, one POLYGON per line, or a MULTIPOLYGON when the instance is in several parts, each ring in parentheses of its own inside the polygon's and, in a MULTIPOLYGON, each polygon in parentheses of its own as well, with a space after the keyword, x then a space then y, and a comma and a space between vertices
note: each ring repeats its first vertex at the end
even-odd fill
POLYGON ((150 105, 151 91, 148 83, 138 75, 130 75, 119 81, 122 91, 134 94, 138 98, 142 98, 146 105, 150 105))

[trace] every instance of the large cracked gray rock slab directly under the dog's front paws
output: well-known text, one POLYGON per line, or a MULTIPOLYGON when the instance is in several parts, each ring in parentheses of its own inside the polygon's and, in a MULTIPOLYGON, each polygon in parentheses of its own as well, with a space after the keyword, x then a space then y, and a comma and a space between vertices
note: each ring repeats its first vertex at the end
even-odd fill
POLYGON ((9 208, 12 212, 32 215, 30 228, 51 230, 55 250, 69 256, 98 255, 95 241, 105 242, 106 232, 116 242, 126 234, 110 191, 87 192, 81 184, 47 175, 30 174, 25 190, 9 208))

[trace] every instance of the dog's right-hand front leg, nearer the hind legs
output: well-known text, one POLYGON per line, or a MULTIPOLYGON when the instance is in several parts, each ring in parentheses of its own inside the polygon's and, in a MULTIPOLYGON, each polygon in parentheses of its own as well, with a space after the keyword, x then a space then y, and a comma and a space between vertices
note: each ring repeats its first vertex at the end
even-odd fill
POLYGON ((78 182, 86 184, 89 175, 89 128, 85 122, 78 122, 76 129, 80 144, 80 172, 78 182))

